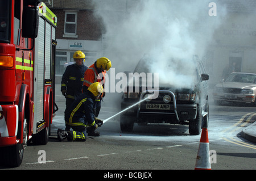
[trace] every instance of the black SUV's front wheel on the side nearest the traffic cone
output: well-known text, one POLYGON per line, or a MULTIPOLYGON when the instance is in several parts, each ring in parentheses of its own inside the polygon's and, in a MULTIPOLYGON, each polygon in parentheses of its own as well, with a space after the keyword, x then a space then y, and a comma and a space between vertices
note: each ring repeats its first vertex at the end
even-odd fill
POLYGON ((201 125, 202 125, 202 108, 200 104, 197 104, 197 114, 195 120, 189 121, 189 134, 198 135, 201 133, 201 125))

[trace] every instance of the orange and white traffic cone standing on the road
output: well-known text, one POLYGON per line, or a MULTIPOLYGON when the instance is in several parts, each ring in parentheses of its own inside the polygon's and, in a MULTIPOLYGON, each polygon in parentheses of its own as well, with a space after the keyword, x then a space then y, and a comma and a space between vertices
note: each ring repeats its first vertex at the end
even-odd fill
POLYGON ((195 170, 210 170, 210 150, 207 128, 203 128, 196 156, 195 170))

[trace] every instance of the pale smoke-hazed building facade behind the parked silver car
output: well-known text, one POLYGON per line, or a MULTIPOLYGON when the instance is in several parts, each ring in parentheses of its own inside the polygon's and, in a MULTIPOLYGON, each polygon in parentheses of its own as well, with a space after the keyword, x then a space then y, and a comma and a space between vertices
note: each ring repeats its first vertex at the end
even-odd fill
POLYGON ((226 6, 227 14, 203 57, 212 85, 232 71, 256 73, 256 1, 225 0, 218 6, 226 6))

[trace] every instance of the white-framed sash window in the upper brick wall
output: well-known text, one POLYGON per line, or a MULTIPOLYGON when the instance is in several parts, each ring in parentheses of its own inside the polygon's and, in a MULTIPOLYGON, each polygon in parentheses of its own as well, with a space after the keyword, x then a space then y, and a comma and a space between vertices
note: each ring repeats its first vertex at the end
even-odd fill
POLYGON ((63 37, 77 37, 77 12, 65 11, 65 27, 63 37))

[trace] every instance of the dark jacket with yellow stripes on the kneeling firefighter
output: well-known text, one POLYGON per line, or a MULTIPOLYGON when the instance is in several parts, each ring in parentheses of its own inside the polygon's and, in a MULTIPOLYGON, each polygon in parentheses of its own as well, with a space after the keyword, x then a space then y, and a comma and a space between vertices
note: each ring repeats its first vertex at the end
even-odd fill
POLYGON ((79 95, 68 108, 65 115, 65 124, 76 128, 85 128, 86 126, 96 128, 94 120, 93 104, 95 96, 90 91, 79 95))

